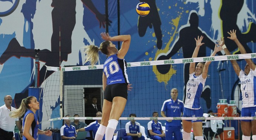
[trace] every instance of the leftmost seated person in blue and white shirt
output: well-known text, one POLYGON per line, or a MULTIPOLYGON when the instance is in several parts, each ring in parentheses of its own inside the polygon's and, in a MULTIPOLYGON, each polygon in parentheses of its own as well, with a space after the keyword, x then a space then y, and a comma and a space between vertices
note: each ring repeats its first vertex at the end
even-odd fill
MULTIPOLYGON (((65 117, 70 117, 66 115, 65 117)), ((60 136, 62 140, 76 139, 76 129, 75 126, 70 125, 70 120, 65 120, 65 125, 60 128, 60 136)))

